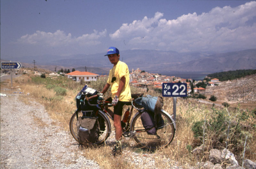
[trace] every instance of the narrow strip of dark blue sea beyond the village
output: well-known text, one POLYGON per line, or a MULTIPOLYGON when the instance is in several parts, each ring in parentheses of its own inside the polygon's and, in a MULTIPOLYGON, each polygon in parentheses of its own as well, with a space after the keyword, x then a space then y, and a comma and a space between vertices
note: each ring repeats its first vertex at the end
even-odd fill
MULTIPOLYGON (((153 72, 150 72, 153 73, 153 72)), ((180 77, 182 79, 192 79, 196 81, 204 80, 205 76, 214 72, 158 72, 158 74, 166 75, 166 76, 175 76, 180 77)))

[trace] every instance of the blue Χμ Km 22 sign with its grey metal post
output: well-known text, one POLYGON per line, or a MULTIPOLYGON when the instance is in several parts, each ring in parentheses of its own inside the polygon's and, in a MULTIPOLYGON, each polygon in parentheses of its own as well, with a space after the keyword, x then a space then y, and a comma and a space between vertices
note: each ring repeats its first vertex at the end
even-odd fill
POLYGON ((187 97, 187 83, 163 83, 162 96, 173 97, 173 120, 176 121, 177 97, 187 97))

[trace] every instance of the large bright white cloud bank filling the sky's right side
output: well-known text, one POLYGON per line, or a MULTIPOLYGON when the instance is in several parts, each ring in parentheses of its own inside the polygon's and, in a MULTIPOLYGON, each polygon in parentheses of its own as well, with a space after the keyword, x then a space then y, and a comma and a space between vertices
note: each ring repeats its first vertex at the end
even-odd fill
POLYGON ((167 20, 156 12, 123 24, 109 34, 112 40, 124 40, 130 48, 175 51, 236 50, 256 46, 256 2, 237 7, 213 8, 201 15, 187 14, 167 20))

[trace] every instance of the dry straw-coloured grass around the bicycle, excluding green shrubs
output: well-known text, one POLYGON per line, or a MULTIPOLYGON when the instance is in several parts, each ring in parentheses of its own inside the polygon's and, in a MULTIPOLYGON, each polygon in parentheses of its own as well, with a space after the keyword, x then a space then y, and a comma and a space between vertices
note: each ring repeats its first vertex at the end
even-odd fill
MULTIPOLYGON (((31 76, 31 75, 30 75, 31 76)), ((79 87, 75 89, 66 88, 67 94, 64 96, 56 95, 56 93, 52 89, 46 89, 45 84, 34 84, 31 81, 29 75, 21 76, 17 78, 13 82, 13 88, 20 88, 20 91, 25 95, 29 93, 29 97, 22 96, 20 97, 23 102, 29 104, 29 98, 36 100, 36 102, 40 102, 44 105, 45 109, 48 111, 50 117, 57 122, 62 128, 66 131, 69 131, 69 120, 71 115, 76 110, 76 101, 75 96, 79 91, 79 87)), ((10 88, 10 82, 1 82, 1 92, 3 88, 10 88)), ((74 84, 74 86, 76 86, 74 84)), ((90 86, 90 85, 89 85, 90 86)), ((80 85, 80 89, 83 85, 80 85)), ((101 90, 102 87, 98 87, 98 90, 101 90)), ((140 91, 136 90, 137 93, 140 91)), ((12 92, 10 92, 11 94, 12 92)), ((141 93, 141 92, 140 92, 141 93)), ((144 92, 145 93, 145 92, 144 92)), ((159 93, 155 93, 153 91, 149 91, 147 94, 151 95, 160 95, 159 93)), ((107 93, 106 95, 109 95, 107 93)), ((173 109, 173 101, 172 98, 164 98, 164 110, 172 114, 173 109)), ((207 119, 210 119, 210 111, 211 109, 204 104, 199 104, 194 102, 193 100, 185 100, 182 98, 177 99, 177 117, 176 117, 176 125, 177 130, 175 132, 175 137, 170 144, 170 146, 156 150, 154 152, 143 151, 138 148, 133 148, 130 146, 125 146, 124 153, 122 156, 118 156, 113 160, 113 156, 111 155, 112 144, 108 142, 107 144, 101 146, 89 146, 82 147, 80 151, 83 151, 84 156, 88 159, 95 160, 102 168, 110 169, 110 168, 134 168, 133 165, 129 162, 128 158, 133 158, 133 152, 139 152, 139 155, 143 156, 144 154, 154 153, 155 165, 157 168, 166 168, 167 160, 169 158, 172 162, 176 161, 180 166, 195 166, 197 161, 202 160, 202 156, 193 156, 189 151, 187 146, 191 145, 192 147, 196 145, 196 141, 194 138, 193 131, 191 130, 193 123, 196 121, 203 120, 206 116, 207 119), (127 159, 126 159, 127 158, 127 159), (125 160, 126 159, 126 160, 125 160)), ((124 108, 124 111, 126 109, 124 108)), ((134 112, 135 113, 135 112, 134 112)), ((36 119, 36 118, 35 118, 36 119)), ((252 122, 255 122, 255 118, 249 119, 252 122)), ((43 125, 43 123, 42 123, 43 125)), ((114 132, 113 123, 111 124, 112 133, 114 132)), ((252 137, 256 137, 256 132, 251 133, 252 137)), ((255 153, 256 152, 256 141, 255 139, 251 139, 251 142, 248 143, 248 149, 246 151, 247 158, 251 160, 256 160, 255 153)), ((131 140, 124 141, 128 145, 131 140)), ((211 144, 211 140, 206 140, 205 144, 211 144)), ((210 147, 209 147, 210 148, 210 147)), ((77 150, 79 151, 79 150, 77 150)), ((204 154, 204 158, 207 158, 207 153, 204 154)), ((72 161, 70 162, 72 163, 72 161)))

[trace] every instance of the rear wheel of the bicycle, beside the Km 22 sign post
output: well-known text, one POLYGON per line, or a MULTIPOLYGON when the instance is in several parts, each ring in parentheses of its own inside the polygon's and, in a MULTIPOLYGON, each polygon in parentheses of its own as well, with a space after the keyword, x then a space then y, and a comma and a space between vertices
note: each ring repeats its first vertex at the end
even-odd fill
POLYGON ((131 131, 134 133, 134 140, 139 143, 142 147, 155 150, 157 148, 166 147, 172 142, 174 137, 175 129, 171 118, 161 111, 161 116, 164 120, 164 124, 158 127, 156 135, 149 135, 144 129, 141 119, 141 113, 137 113, 131 122, 131 131), (144 130, 141 132, 141 130, 144 130))

